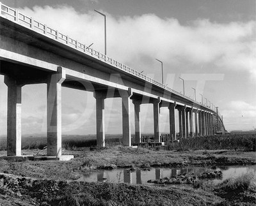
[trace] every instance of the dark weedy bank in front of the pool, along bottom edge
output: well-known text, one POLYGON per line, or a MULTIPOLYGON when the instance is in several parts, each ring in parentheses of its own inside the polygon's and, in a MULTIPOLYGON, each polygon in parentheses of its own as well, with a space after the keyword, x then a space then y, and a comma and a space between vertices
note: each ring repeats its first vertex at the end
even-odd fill
POLYGON ((33 180, 0 175, 0 205, 218 205, 202 189, 33 180))

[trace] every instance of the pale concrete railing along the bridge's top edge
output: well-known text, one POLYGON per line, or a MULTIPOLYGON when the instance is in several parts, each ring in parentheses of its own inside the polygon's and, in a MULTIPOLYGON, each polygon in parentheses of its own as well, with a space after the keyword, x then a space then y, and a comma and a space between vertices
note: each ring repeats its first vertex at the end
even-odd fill
MULTIPOLYGON (((65 45, 68 45, 69 47, 75 48, 76 50, 79 50, 80 52, 83 52, 87 55, 90 55, 92 57, 95 57, 99 59, 100 61, 103 61, 107 64, 110 64, 111 66, 115 66, 116 68, 123 70, 127 73, 130 73, 131 75, 134 75, 138 78, 141 78, 147 82, 150 82, 154 85, 157 85, 166 91, 170 91, 173 94, 177 94, 178 96, 181 96, 183 98, 189 99, 190 101, 202 105, 202 103, 199 103, 198 101, 195 101, 192 98, 189 98, 188 96, 181 94, 180 92, 177 92, 170 87, 167 87, 164 84, 161 84, 157 80, 154 80, 153 78, 147 77, 146 75, 143 75, 137 70, 134 70, 130 68, 129 66, 122 64, 115 59, 112 59, 111 57, 108 57, 104 54, 101 54, 100 52, 93 50, 93 48, 90 48, 86 46, 83 43, 80 43, 77 40, 74 40, 70 38, 67 34, 60 33, 56 29, 52 29, 51 27, 48 27, 46 24, 42 24, 41 22, 38 22, 37 20, 34 20, 32 17, 28 17, 22 13, 20 13, 18 10, 15 10, 13 8, 10 8, 9 6, 6 6, 0 2, 1 12, 0 15, 2 17, 8 18, 8 20, 12 20, 13 22, 16 22, 17 24, 20 24, 22 26, 28 27, 29 29, 36 31, 37 33, 44 34, 48 38, 52 38, 53 40, 56 40, 60 43, 63 43, 65 45)), ((202 105, 205 107, 205 105, 202 105)))

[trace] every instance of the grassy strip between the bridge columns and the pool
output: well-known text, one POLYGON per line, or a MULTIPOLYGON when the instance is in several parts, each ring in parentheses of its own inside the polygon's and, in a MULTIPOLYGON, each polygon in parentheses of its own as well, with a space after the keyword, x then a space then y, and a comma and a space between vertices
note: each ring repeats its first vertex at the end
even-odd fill
MULTIPOLYGON (((39 150, 24 150, 24 155, 37 154, 39 150)), ((40 154, 44 155, 45 151, 40 154)), ((4 156, 4 151, 0 156, 4 156)), ((255 152, 246 151, 166 151, 164 149, 132 149, 122 146, 90 151, 84 147, 74 151, 71 161, 5 161, 0 160, 0 172, 25 177, 75 180, 81 174, 100 169, 150 168, 214 165, 255 165, 255 152)), ((5 154, 6 155, 6 154, 5 154)))

